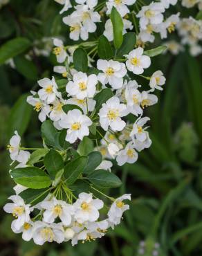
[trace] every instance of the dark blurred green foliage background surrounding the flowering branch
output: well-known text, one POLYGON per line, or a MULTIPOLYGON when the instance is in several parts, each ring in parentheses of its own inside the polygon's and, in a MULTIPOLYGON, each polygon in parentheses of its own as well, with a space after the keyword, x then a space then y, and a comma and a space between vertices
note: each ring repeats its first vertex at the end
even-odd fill
POLYGON ((13 60, 0 66, 0 256, 202 255, 202 58, 187 51, 154 57, 147 71, 162 70, 167 82, 158 104, 147 111, 152 147, 134 165, 114 167, 123 185, 112 194, 127 192, 133 198, 120 226, 107 237, 75 247, 35 246, 11 231, 12 217, 3 212, 15 185, 6 145, 15 129, 23 134, 24 145, 42 143, 37 113, 25 99, 37 89, 37 80, 53 75, 57 63, 50 53, 51 38, 62 35, 67 42, 59 8, 52 0, 15 0, 0 9, 0 44, 15 37, 33 43, 22 44, 13 60))

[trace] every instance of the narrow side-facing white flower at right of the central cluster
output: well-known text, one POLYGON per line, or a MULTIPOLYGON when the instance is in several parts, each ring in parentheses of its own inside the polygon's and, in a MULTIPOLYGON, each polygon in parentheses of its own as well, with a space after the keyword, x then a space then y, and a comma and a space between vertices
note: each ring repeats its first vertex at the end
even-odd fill
POLYGON ((125 89, 127 113, 133 113, 135 116, 141 115, 143 113, 143 109, 140 107, 142 102, 142 95, 138 90, 138 87, 138 83, 134 80, 129 81, 125 89))

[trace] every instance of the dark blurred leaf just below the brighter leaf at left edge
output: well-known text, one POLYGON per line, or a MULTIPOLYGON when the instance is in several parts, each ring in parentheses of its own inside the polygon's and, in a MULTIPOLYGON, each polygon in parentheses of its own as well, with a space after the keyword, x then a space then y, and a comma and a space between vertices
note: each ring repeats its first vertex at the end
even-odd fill
POLYGON ((37 67, 33 62, 24 56, 17 56, 14 59, 17 71, 24 75, 28 80, 37 80, 37 67))

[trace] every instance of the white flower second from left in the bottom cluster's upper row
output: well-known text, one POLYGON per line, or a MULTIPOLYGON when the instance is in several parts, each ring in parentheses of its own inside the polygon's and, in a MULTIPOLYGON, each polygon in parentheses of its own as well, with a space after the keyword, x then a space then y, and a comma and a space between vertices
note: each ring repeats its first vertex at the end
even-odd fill
POLYGON ((71 223, 71 214, 73 214, 73 207, 65 201, 57 200, 55 197, 50 201, 42 201, 42 208, 45 209, 44 221, 53 223, 57 217, 62 221, 65 226, 71 223))

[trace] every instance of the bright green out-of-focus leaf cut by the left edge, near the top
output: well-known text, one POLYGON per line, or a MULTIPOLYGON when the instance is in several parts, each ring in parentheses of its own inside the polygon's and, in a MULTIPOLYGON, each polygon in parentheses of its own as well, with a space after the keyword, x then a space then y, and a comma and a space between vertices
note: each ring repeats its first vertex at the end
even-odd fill
POLYGON ((0 48, 0 65, 12 57, 24 53, 31 46, 31 42, 24 37, 17 37, 6 42, 0 48))

